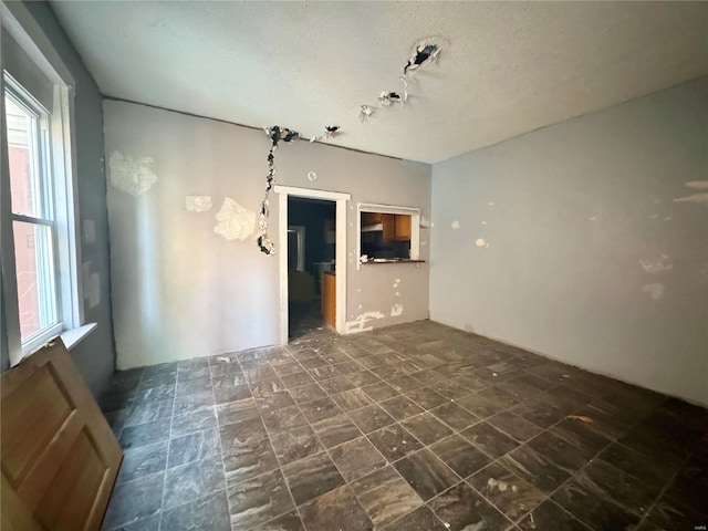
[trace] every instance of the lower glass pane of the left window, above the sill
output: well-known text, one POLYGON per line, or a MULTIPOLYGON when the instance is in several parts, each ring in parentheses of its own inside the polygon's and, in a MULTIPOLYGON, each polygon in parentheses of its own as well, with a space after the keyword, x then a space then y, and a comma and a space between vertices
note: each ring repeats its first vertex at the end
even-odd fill
POLYGON ((28 337, 59 322, 52 229, 12 222, 20 306, 20 334, 28 337))

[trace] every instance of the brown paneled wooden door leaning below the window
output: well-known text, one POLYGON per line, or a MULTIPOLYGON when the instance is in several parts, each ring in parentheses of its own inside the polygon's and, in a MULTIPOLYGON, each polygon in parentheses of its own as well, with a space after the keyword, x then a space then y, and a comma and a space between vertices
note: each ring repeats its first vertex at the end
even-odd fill
POLYGON ((61 340, 2 374, 2 531, 88 531, 123 452, 61 340))

